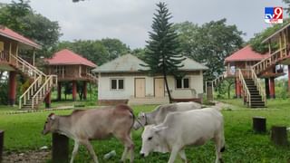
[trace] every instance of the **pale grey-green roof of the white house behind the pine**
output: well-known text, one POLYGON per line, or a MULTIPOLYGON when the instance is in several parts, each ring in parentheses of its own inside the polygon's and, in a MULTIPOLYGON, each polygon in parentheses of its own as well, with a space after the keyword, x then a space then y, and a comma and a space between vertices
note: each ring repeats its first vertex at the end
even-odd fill
MULTIPOLYGON (((196 71, 196 70, 208 70, 208 67, 195 62, 189 58, 186 58, 182 62, 184 66, 179 70, 184 71, 196 71)), ((145 62, 132 54, 122 55, 111 62, 106 62, 101 66, 92 70, 92 72, 139 72, 140 70, 149 70, 148 67, 141 66, 140 64, 146 65, 145 62)))

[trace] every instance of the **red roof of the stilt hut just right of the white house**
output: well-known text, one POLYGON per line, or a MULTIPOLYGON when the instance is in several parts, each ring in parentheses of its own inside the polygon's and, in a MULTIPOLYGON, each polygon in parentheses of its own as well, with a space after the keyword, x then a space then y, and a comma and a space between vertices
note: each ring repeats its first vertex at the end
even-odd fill
POLYGON ((243 61, 261 61, 268 57, 269 54, 256 53, 250 45, 238 50, 236 53, 231 54, 225 59, 227 62, 243 62, 243 61))

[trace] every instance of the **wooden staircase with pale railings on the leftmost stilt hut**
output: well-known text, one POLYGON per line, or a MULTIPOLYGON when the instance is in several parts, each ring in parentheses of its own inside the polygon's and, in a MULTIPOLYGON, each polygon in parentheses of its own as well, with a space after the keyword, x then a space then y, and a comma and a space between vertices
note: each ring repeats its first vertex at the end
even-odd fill
POLYGON ((47 93, 57 85, 56 75, 45 75, 36 67, 26 62, 19 56, 8 53, 7 62, 24 76, 32 79, 34 82, 19 98, 19 109, 29 110, 37 109, 43 102, 47 93))

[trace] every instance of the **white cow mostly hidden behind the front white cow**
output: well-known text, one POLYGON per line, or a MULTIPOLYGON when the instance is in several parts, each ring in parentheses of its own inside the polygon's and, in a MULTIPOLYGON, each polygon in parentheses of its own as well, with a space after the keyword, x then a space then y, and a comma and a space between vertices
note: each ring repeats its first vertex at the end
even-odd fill
POLYGON ((193 101, 160 105, 151 112, 140 112, 138 118, 134 122, 133 129, 140 129, 140 127, 150 124, 160 124, 169 112, 196 110, 200 108, 201 104, 193 101))

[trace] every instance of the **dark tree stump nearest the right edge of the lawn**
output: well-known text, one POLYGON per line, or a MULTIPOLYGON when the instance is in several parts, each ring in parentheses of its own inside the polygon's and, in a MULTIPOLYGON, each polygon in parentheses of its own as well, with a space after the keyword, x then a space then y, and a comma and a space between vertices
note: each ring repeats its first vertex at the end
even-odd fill
POLYGON ((278 146, 286 146, 287 141, 287 130, 285 126, 272 126, 271 128, 271 140, 278 146))

